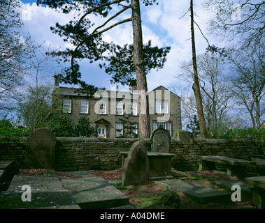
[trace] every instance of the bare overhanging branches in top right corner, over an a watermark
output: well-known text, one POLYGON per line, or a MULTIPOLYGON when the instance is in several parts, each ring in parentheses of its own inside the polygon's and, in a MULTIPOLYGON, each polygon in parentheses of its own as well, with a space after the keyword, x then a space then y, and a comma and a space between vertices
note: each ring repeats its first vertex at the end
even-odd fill
POLYGON ((206 0, 204 7, 215 12, 210 20, 209 31, 215 36, 238 38, 245 45, 259 43, 264 38, 265 1, 241 0, 206 0))

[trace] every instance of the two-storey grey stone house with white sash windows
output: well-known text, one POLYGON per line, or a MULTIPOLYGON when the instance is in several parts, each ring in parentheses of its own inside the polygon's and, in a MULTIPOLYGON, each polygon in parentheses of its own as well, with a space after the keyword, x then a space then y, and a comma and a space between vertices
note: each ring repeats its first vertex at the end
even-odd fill
MULTIPOLYGON (((55 77, 53 97, 62 103, 64 113, 68 113, 72 121, 88 115, 89 121, 99 130, 99 137, 120 137, 124 132, 127 120, 134 125, 132 132, 138 134, 138 91, 130 87, 129 91, 118 91, 113 84, 110 91, 96 91, 92 97, 86 93, 78 93, 77 89, 59 86, 59 79, 55 77), (129 114, 129 115, 128 115, 129 114)), ((150 128, 155 130, 162 125, 169 130, 171 136, 177 129, 181 129, 180 97, 164 86, 148 92, 150 128)))

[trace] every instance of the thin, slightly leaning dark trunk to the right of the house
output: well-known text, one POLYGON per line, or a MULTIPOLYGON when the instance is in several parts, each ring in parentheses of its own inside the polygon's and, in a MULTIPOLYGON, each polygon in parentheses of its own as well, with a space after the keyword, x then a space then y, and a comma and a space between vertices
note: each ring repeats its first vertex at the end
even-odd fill
POLYGON ((195 50, 195 37, 194 37, 194 13, 193 13, 193 0, 190 1, 190 17, 191 17, 191 31, 192 31, 192 63, 193 63, 193 71, 194 71, 194 84, 192 85, 192 89, 194 91, 194 95, 196 98, 196 107, 199 119, 199 126, 201 131, 201 139, 206 139, 206 124, 203 115, 203 105, 201 100, 201 91, 199 86, 199 77, 196 65, 196 50, 195 50))

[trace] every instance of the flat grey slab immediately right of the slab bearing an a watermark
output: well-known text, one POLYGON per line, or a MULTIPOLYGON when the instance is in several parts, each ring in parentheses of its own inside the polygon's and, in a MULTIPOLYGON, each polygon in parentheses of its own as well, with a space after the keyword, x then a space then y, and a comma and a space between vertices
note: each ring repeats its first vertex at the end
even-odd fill
POLYGON ((62 183, 82 209, 129 205, 129 198, 101 177, 64 178, 62 183))

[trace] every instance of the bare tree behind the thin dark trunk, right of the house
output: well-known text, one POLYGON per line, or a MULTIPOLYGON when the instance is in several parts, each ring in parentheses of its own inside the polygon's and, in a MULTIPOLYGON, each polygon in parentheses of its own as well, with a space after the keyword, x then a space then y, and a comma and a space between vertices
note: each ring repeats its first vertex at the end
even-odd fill
MULTIPOLYGON (((227 77, 223 72, 224 62, 210 54, 200 54, 197 56, 197 70, 206 126, 214 130, 217 128, 217 123, 222 123, 227 118, 226 113, 232 97, 227 77)), ((180 71, 175 77, 192 85, 194 83, 192 61, 182 61, 180 71)), ((196 109, 195 98, 187 91, 181 92, 182 106, 193 117, 196 109)))

